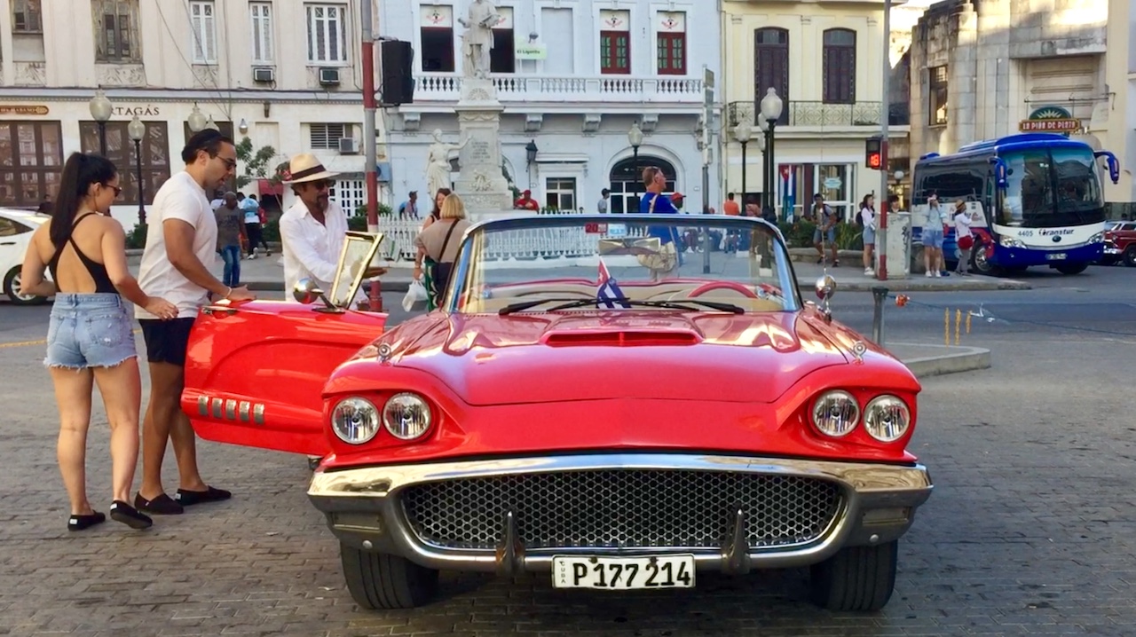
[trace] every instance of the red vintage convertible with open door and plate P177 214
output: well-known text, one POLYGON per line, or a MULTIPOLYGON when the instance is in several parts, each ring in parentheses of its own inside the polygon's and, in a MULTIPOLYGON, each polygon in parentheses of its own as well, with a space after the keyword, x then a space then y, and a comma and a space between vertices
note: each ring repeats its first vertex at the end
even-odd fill
POLYGON ((423 604, 440 570, 627 590, 797 567, 825 607, 884 606, 932 491, 919 383, 832 319, 832 277, 802 300, 771 225, 613 219, 476 224, 441 308, 392 328, 345 308, 382 241, 352 236, 331 292, 204 309, 183 409, 323 458, 308 495, 361 606, 423 604))

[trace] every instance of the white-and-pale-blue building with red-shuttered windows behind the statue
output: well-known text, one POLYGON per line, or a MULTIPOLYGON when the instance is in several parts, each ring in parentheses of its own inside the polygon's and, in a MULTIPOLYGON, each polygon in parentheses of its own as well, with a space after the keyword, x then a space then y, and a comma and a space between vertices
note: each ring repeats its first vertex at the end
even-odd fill
MULTIPOLYGON (((382 34, 415 50, 414 103, 390 109, 395 198, 425 191, 431 134, 459 142, 453 107, 471 0, 389 0, 382 34)), ((613 212, 642 192, 628 131, 645 133, 637 166, 658 166, 700 210, 703 65, 717 70, 719 20, 705 0, 496 0, 491 77, 504 106, 504 169, 542 207, 613 212), (699 10, 695 11, 694 9, 699 10), (528 161, 526 145, 537 152, 528 161)), ((458 170, 458 166, 454 166, 458 170)), ((716 186, 711 186, 717 191, 716 186)), ((712 206, 720 199, 710 193, 712 206)), ((429 201, 429 195, 423 195, 429 201)))

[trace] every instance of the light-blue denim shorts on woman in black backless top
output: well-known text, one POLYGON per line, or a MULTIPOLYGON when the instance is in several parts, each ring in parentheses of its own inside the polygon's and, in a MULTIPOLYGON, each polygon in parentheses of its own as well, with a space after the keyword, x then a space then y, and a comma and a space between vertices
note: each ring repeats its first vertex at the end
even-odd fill
POLYGON ((115 367, 137 355, 134 320, 118 294, 56 294, 43 364, 67 369, 115 367))

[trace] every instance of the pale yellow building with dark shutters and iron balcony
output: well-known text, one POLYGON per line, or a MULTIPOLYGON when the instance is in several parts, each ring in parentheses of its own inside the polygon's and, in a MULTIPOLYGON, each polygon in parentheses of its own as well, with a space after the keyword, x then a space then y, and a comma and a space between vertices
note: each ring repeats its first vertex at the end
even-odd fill
MULTIPOLYGON (((762 192, 761 132, 754 116, 774 87, 784 103, 775 127, 777 169, 770 188, 780 218, 790 209, 801 213, 815 193, 847 216, 863 195, 876 193, 878 199, 880 173, 866 167, 864 144, 879 133, 883 115, 883 1, 721 0, 721 7, 722 192, 743 192, 742 145, 735 135, 742 120, 753 126, 744 191, 762 192)), ((893 169, 908 161, 895 157, 908 135, 902 93, 893 87, 897 99, 888 100, 895 104, 888 135, 893 169)))

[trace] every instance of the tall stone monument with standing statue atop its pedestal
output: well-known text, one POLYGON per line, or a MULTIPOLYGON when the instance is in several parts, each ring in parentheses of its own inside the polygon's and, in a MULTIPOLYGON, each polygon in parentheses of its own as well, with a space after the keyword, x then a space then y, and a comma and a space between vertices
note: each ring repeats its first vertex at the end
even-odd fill
POLYGON ((512 211, 512 192, 501 170, 501 112, 496 86, 490 78, 490 50, 493 26, 501 20, 490 0, 474 0, 461 35, 463 77, 454 110, 462 142, 456 146, 461 171, 454 190, 466 202, 474 219, 502 216, 512 211))

